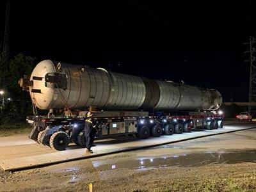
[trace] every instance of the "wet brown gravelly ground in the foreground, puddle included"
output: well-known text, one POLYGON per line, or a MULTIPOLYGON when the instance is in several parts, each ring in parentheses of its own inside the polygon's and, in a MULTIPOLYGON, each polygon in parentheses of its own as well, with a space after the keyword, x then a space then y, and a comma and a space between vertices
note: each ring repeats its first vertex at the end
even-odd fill
MULTIPOLYGON (((232 124, 240 129, 255 125, 232 124)), ((256 128, 20 172, 1 171, 0 191, 88 191, 90 182, 94 191, 247 190, 256 189, 255 164, 256 128)))

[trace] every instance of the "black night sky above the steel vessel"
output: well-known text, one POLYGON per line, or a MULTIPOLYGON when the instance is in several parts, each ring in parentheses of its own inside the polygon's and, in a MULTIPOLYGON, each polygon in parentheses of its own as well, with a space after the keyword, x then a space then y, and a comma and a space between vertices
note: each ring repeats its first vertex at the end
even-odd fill
MULTIPOLYGON (((12 1, 10 49, 114 72, 216 88, 248 101, 255 1, 12 1), (82 3, 83 2, 83 3, 82 3)), ((5 1, 0 3, 3 44, 5 1)))

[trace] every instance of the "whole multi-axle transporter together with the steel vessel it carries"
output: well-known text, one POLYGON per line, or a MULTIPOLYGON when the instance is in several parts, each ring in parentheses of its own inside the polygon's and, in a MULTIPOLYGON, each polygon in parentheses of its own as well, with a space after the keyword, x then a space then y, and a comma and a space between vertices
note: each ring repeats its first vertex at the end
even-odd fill
MULTIPOLYGON (((51 60, 38 63, 19 84, 30 93, 35 109, 49 111, 46 116, 28 116, 33 125, 29 138, 56 150, 72 142, 72 129, 84 126, 88 111, 93 113, 98 138, 145 139, 196 127, 223 127, 223 115, 217 112, 222 97, 217 90, 51 60)), ((84 147, 83 131, 74 142, 84 147)))

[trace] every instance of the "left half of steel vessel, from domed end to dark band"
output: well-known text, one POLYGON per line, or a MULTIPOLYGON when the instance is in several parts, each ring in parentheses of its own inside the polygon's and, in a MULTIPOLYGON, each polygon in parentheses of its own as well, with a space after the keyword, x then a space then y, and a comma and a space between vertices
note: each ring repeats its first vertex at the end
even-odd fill
POLYGON ((47 60, 38 63, 31 75, 44 77, 51 72, 67 74, 67 89, 45 87, 44 81, 34 81, 34 87, 42 93, 31 93, 31 98, 40 109, 68 108, 83 109, 97 106, 104 109, 138 109, 145 100, 145 84, 140 77, 111 73, 106 70, 47 60), (46 68, 46 70, 42 70, 46 68), (84 71, 81 70, 84 68, 84 71), (40 72, 40 73, 39 73, 40 72), (38 84, 40 86, 38 86, 38 84))

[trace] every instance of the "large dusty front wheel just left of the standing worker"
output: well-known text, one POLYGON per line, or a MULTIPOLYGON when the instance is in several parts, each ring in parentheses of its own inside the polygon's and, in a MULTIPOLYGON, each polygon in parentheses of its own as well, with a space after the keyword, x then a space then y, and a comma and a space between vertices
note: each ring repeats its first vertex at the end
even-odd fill
POLYGON ((54 132, 49 143, 51 148, 55 148, 56 150, 65 150, 69 143, 68 134, 63 131, 54 132))

